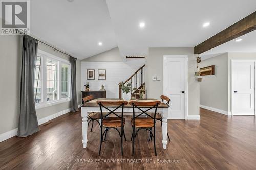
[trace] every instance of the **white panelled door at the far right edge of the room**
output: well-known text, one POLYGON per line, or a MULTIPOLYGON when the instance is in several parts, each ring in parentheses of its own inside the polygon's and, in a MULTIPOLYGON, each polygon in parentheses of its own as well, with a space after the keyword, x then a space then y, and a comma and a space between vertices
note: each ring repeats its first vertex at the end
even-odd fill
POLYGON ((254 66, 253 61, 232 63, 233 115, 254 115, 254 66))

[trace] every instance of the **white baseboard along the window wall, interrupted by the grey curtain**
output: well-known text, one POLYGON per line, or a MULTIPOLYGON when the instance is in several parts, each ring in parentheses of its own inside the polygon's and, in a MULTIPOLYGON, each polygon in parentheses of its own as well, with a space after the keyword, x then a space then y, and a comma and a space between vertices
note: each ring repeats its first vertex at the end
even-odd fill
MULTIPOLYGON (((61 116, 63 114, 66 114, 68 112, 70 112, 70 109, 62 110, 62 111, 57 112, 55 114, 52 114, 50 116, 41 118, 41 119, 38 120, 38 125, 44 124, 44 123, 48 122, 49 120, 52 120, 52 119, 54 119, 56 117, 59 117, 59 116, 61 116)), ((10 130, 8 132, 0 134, 0 142, 2 142, 4 140, 7 140, 7 139, 9 139, 9 138, 11 138, 13 136, 16 136, 17 135, 17 131, 18 131, 18 128, 15 128, 13 130, 10 130)))

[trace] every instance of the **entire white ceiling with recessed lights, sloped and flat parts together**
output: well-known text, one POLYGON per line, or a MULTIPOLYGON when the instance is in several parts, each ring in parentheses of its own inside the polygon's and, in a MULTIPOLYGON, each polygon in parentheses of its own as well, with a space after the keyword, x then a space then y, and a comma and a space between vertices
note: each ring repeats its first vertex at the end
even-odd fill
POLYGON ((255 0, 30 2, 31 34, 79 59, 115 46, 121 56, 147 55, 148 47, 194 47, 256 9, 255 0), (204 22, 210 26, 202 28, 204 22))

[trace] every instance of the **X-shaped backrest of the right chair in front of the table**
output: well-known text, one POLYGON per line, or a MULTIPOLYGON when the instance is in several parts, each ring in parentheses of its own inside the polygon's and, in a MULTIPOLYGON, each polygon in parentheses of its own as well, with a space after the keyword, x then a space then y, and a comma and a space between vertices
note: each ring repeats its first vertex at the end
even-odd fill
POLYGON ((161 104, 160 101, 131 101, 129 102, 130 105, 133 106, 133 121, 135 121, 136 118, 140 117, 141 115, 145 114, 147 117, 150 117, 152 119, 154 119, 154 122, 156 120, 156 113, 157 113, 157 107, 158 105, 161 104), (150 107, 147 110, 142 110, 142 107, 150 107), (138 114, 137 116, 135 116, 135 108, 139 109, 141 111, 140 114, 138 114), (148 111, 150 111, 151 109, 154 109, 154 117, 152 117, 151 115, 148 114, 148 111))

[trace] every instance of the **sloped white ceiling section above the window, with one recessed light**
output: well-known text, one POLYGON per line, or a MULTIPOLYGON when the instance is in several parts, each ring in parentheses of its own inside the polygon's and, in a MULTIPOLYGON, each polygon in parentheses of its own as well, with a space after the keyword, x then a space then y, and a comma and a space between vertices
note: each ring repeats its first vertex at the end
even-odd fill
POLYGON ((117 46, 103 0, 32 0, 30 9, 30 33, 76 58, 117 46))

